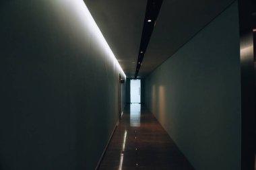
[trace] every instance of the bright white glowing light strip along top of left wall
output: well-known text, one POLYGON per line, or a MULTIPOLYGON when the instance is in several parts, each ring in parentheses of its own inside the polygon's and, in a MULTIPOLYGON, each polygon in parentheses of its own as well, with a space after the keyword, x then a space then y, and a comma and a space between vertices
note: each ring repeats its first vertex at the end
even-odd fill
POLYGON ((115 65, 118 67, 119 71, 123 73, 123 75, 126 77, 125 73, 123 72, 123 69, 119 65, 119 62, 117 58, 115 57, 115 54, 113 54, 113 51, 110 49, 108 46, 108 43, 106 42, 104 36, 102 35, 102 32, 100 32, 100 28, 98 28, 96 22, 94 21, 88 7, 84 3, 83 0, 66 0, 70 5, 74 5, 75 11, 77 14, 79 14, 79 18, 81 20, 84 20, 84 24, 86 25, 87 28, 90 29, 90 31, 94 34, 94 36, 99 40, 101 43, 102 47, 106 50, 110 58, 113 59, 115 62, 115 65))

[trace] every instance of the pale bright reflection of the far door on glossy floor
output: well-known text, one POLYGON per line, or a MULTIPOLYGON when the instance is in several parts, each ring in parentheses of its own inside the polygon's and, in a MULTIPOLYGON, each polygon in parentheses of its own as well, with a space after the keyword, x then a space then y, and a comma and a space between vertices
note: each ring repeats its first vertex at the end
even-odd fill
POLYGON ((130 105, 130 126, 140 126, 140 114, 141 105, 139 103, 133 103, 130 105))

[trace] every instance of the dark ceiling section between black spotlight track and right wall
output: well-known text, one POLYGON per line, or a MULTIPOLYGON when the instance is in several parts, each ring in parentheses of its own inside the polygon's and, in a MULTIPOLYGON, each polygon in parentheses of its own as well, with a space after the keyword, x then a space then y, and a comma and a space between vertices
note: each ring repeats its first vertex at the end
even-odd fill
POLYGON ((154 71, 233 1, 163 1, 139 77, 154 71))

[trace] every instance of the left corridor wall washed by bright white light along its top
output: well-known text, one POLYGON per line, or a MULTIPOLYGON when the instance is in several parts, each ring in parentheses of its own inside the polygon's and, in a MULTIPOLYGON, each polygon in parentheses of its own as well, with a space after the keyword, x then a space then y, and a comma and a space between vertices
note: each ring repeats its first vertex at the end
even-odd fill
POLYGON ((94 169, 125 74, 84 1, 1 1, 0 23, 0 169, 94 169))

